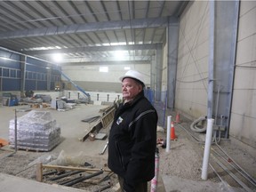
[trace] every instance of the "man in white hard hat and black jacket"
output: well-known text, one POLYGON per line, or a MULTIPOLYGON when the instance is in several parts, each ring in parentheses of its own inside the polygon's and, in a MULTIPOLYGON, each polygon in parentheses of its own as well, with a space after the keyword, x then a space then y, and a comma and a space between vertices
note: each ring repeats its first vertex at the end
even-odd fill
POLYGON ((125 192, 147 192, 155 175, 156 109, 144 97, 143 76, 120 77, 124 102, 116 109, 108 138, 108 167, 125 192))

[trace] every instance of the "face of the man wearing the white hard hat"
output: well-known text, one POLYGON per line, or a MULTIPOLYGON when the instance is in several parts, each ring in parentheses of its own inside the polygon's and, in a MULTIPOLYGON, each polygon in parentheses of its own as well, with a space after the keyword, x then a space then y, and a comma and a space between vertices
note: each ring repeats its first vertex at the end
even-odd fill
POLYGON ((124 100, 132 100, 141 91, 142 91, 141 84, 138 84, 132 78, 124 78, 122 82, 122 92, 123 92, 124 100))

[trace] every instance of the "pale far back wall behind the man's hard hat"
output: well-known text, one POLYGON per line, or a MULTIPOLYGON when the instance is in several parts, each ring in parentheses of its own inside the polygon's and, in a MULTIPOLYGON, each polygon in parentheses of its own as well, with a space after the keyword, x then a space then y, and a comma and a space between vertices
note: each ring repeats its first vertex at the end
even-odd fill
MULTIPOLYGON (((144 75, 146 85, 150 84, 150 64, 108 65, 108 73, 100 72, 100 67, 102 66, 64 66, 62 72, 85 92, 121 92, 119 77, 124 76, 127 71, 124 67, 140 71, 144 75)), ((62 76, 62 80, 66 79, 62 76)), ((74 90, 74 87, 72 89, 74 90)))

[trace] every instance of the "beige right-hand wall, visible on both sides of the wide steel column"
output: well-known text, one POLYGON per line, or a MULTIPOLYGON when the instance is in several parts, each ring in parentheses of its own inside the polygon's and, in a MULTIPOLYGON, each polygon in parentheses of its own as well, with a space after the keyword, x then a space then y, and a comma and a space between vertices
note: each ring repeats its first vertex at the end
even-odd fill
MULTIPOLYGON (((241 1, 229 136, 256 148, 256 2, 241 1)), ((175 109, 207 115, 209 2, 190 2, 180 17, 175 109)))

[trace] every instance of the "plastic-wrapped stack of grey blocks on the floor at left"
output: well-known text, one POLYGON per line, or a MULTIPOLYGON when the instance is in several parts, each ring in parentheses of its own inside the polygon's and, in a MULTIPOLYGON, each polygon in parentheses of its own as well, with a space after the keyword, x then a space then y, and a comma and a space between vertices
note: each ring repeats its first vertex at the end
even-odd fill
MULTIPOLYGON (((9 125, 10 146, 15 147, 15 119, 9 125)), ((48 111, 32 110, 17 118, 17 148, 50 151, 60 143, 60 126, 48 111)))

